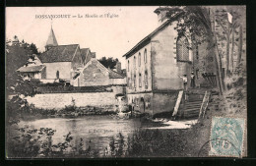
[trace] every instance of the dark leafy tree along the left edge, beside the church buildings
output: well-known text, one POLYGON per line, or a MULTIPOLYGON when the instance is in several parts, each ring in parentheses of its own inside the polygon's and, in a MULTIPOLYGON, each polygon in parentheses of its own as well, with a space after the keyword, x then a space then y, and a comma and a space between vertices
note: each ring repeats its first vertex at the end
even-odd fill
POLYGON ((23 111, 30 110, 29 103, 23 96, 32 95, 36 83, 24 81, 17 70, 24 66, 32 55, 32 51, 19 45, 6 46, 6 97, 15 96, 7 100, 7 124, 17 123, 23 111))

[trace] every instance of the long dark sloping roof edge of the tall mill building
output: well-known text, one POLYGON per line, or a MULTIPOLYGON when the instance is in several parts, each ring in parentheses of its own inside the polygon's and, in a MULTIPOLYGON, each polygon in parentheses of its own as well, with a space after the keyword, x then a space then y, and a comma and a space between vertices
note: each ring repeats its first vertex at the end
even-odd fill
POLYGON ((149 35, 147 35, 145 38, 143 38, 140 42, 138 42, 130 51, 128 51, 126 54, 123 55, 123 57, 128 57, 131 54, 138 51, 141 47, 143 47, 145 44, 149 43, 151 41, 151 38, 157 34, 162 28, 165 28, 169 25, 169 23, 173 22, 177 17, 179 17, 182 13, 178 13, 175 16, 171 17, 167 21, 165 21, 162 25, 160 25, 159 28, 156 28, 153 32, 151 32, 149 35))

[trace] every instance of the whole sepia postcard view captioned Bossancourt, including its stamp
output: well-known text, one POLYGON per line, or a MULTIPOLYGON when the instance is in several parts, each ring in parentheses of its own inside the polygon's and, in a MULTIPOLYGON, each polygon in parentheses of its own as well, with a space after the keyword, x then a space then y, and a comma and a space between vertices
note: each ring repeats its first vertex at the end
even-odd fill
POLYGON ((248 156, 246 6, 5 19, 7 159, 248 156))

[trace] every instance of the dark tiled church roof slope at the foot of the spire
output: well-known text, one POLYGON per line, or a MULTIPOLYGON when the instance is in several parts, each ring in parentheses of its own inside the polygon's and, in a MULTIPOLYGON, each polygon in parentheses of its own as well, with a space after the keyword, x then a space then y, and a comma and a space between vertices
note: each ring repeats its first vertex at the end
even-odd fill
POLYGON ((42 63, 71 62, 78 46, 78 44, 54 46, 41 53, 38 58, 42 63))

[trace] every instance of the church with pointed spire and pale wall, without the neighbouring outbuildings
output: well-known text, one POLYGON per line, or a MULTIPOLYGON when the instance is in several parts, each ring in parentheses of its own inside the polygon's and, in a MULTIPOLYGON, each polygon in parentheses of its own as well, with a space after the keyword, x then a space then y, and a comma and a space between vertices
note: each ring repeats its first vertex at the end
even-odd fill
POLYGON ((51 28, 45 45, 45 52, 38 55, 46 68, 46 77, 42 82, 51 83, 61 79, 66 83, 73 84, 76 82, 74 78, 76 78, 78 70, 83 68, 94 55, 90 48, 80 48, 79 44, 58 45, 51 28))

